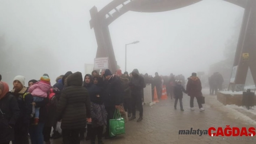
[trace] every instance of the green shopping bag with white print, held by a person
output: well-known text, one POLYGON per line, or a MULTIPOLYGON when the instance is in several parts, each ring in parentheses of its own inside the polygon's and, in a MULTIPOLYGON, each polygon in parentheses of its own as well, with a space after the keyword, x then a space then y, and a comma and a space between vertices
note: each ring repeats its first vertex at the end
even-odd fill
POLYGON ((109 120, 109 135, 110 137, 114 137, 120 134, 125 134, 125 124, 119 109, 116 109, 113 119, 109 120))

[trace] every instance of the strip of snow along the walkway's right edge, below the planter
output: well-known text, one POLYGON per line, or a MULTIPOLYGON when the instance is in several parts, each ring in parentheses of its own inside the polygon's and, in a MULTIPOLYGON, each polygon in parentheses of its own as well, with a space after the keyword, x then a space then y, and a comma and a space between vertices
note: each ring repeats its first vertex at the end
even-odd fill
MULTIPOLYGON (((202 93, 205 96, 206 104, 204 104, 204 105, 210 105, 210 108, 214 108, 214 109, 217 109, 217 110, 219 110, 223 113, 226 113, 227 117, 229 117, 231 119, 238 119, 239 121, 241 121, 244 124, 250 123, 251 125, 256 126, 256 121, 254 121, 253 119, 251 119, 247 115, 239 112, 238 110, 235 110, 234 106, 233 107, 232 107, 232 105, 226 105, 225 106, 217 100, 217 96, 209 95, 209 89, 208 90, 207 89, 202 90, 202 93)), ((207 112, 207 109, 205 110, 205 112, 207 112)), ((256 114, 256 110, 253 111, 253 113, 254 112, 256 114)))

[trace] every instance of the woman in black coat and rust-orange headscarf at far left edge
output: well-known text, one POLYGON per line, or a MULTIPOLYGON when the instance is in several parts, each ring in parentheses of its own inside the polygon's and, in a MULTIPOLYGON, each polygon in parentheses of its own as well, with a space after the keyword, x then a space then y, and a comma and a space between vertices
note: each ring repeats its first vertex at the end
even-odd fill
POLYGON ((0 82, 0 144, 9 144, 14 140, 13 127, 19 114, 18 102, 9 92, 8 84, 0 82))

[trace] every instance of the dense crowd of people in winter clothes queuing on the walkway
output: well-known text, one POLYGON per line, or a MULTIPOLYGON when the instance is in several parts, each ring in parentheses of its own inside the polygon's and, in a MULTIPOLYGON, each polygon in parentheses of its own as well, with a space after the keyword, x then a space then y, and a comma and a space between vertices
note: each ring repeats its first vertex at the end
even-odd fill
MULTIPOLYGON (((0 75, 1 76, 1 75, 0 75)), ((112 74, 104 70, 100 74, 93 71, 86 74, 84 79, 80 72, 68 71, 56 78, 51 86, 48 74, 43 74, 40 80, 29 80, 25 86, 25 77, 18 75, 13 79, 13 90, 9 91, 7 83, 0 77, 0 144, 50 144, 50 138, 63 138, 64 144, 79 144, 80 140, 90 140, 102 144, 102 137, 110 138, 109 120, 113 118, 116 109, 124 106, 129 121, 143 120, 142 100, 146 84, 152 84, 152 90, 157 89, 158 98, 162 95, 162 86, 175 99, 176 109, 178 100, 180 110, 183 110, 183 92, 191 98, 190 107, 196 97, 200 111, 202 87, 196 73, 188 78, 185 90, 183 75, 155 77, 142 75, 137 69, 128 75, 117 70, 112 74), (61 122, 61 134, 56 125, 61 122), (104 127, 106 132, 103 134, 104 127), (52 128, 54 129, 51 136, 52 128), (84 133, 86 132, 86 137, 84 133)), ((152 97, 153 99, 153 97, 152 97)))

